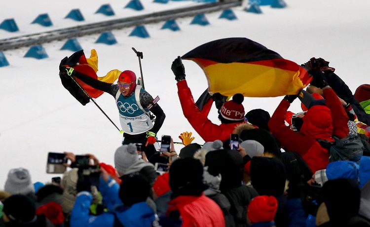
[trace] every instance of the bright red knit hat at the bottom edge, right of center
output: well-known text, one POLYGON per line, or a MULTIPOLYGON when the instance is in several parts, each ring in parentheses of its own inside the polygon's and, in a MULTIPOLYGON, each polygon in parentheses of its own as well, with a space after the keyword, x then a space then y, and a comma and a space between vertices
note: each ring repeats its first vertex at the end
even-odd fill
POLYGON ((277 206, 277 199, 274 196, 256 196, 248 205, 248 218, 252 223, 272 222, 275 219, 277 206))

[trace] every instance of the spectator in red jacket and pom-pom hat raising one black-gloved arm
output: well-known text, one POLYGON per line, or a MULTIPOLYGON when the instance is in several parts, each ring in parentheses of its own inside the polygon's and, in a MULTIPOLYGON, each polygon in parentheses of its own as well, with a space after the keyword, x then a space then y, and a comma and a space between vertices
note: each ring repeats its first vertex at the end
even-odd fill
POLYGON ((177 81, 183 113, 191 126, 205 142, 213 142, 215 140, 225 141, 230 138, 230 134, 237 125, 245 122, 244 106, 242 105, 244 96, 242 94, 235 94, 232 100, 222 105, 219 114, 221 124, 214 124, 195 104, 185 80, 185 68, 180 56, 172 62, 171 69, 177 81))

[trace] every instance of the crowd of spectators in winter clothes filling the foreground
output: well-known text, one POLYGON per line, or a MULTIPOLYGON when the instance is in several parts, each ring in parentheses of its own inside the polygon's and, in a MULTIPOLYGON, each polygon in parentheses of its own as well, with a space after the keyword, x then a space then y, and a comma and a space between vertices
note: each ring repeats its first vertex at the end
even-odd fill
POLYGON ((310 85, 285 96, 271 116, 245 113, 242 94, 213 95, 215 124, 177 58, 183 112, 204 144, 192 143, 191 132, 179 136, 180 151, 172 139, 169 151, 150 153, 124 144, 114 163, 94 154, 80 163, 65 152, 66 171, 52 182, 11 169, 0 190, 0 227, 370 226, 370 84, 353 94, 324 59, 302 67, 310 85), (298 100, 302 112, 290 112, 298 100))

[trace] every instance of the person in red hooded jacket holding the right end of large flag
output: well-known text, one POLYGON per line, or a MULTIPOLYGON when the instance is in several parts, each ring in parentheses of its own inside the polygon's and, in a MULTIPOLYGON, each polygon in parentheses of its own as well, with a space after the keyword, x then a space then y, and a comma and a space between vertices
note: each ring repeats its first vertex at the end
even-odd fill
POLYGON ((325 106, 311 107, 303 116, 303 124, 297 133, 289 129, 284 120, 290 104, 298 95, 287 95, 271 116, 268 127, 286 151, 299 153, 315 173, 326 169, 329 164, 329 151, 321 147, 317 139, 333 142, 333 136, 339 139, 348 136, 348 116, 321 72, 312 74, 311 85, 322 88, 326 97, 325 106))

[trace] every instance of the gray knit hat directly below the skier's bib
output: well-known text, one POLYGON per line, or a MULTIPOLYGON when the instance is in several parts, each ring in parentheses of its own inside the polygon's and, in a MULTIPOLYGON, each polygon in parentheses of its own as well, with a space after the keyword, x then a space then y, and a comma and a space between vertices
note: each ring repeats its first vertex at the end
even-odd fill
POLYGON ((114 165, 119 174, 125 174, 138 160, 139 154, 135 144, 122 145, 114 153, 114 165))

